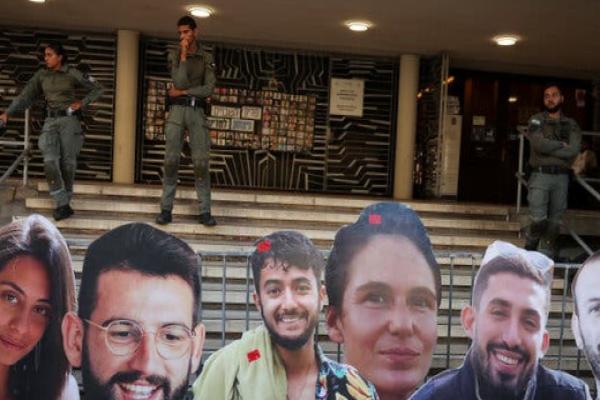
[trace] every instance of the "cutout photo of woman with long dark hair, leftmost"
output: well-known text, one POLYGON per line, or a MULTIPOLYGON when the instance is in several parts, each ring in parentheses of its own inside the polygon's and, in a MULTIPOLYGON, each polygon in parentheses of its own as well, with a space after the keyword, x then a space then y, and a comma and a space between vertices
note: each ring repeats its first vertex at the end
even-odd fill
POLYGON ((0 399, 79 399, 60 330, 74 293, 67 244, 50 221, 33 214, 0 228, 0 399))

